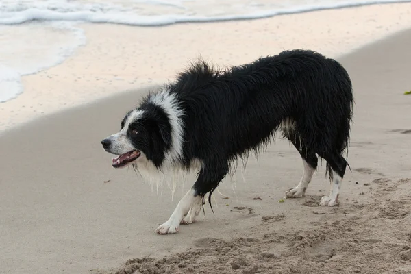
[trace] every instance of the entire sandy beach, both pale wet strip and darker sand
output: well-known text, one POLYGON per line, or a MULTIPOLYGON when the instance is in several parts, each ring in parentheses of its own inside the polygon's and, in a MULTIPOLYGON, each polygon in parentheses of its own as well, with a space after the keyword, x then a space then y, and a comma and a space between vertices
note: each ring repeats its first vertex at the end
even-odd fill
POLYGON ((411 273, 410 15, 404 3, 159 28, 82 25, 86 46, 23 77, 25 92, 0 105, 0 273, 411 273), (158 194, 132 169, 112 169, 101 138, 200 53, 230 65, 292 48, 336 58, 353 81, 352 172, 340 206, 318 206, 325 162, 306 197, 279 202, 302 164, 278 140, 250 158, 245 182, 238 171, 219 186, 215 214, 206 207, 178 234, 155 234, 192 179, 173 199, 166 186, 158 194))

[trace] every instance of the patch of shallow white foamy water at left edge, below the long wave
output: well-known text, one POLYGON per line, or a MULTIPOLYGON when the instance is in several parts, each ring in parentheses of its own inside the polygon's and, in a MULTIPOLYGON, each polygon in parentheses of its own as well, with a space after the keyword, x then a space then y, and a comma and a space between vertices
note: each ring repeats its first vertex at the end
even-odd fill
POLYGON ((69 22, 0 26, 0 103, 23 92, 21 76, 61 64, 86 42, 69 22))

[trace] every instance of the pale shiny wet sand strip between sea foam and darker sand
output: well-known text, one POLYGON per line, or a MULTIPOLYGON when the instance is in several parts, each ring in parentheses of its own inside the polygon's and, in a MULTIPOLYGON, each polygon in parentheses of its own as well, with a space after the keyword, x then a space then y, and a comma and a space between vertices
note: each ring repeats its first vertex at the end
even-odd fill
POLYGON ((0 134, 45 114, 173 80, 199 55, 220 66, 294 48, 338 59, 408 29, 410 12, 411 3, 393 3, 164 27, 79 24, 86 45, 62 64, 22 77, 23 94, 0 104, 0 116, 5 117, 0 134))

